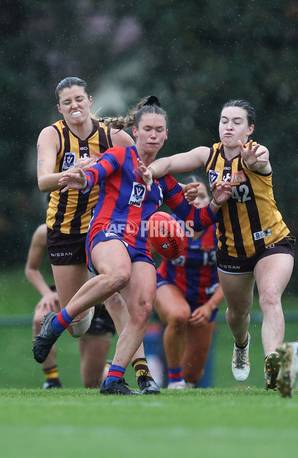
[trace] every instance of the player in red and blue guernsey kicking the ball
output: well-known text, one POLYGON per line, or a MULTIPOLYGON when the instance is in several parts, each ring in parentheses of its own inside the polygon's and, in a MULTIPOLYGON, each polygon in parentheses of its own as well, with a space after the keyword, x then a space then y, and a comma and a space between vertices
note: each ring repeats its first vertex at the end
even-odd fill
MULTIPOLYGON (((46 357, 75 316, 121 290, 130 318, 119 336, 108 377, 101 385, 103 394, 140 394, 127 387, 123 375, 143 341, 156 293, 155 266, 142 223, 163 199, 180 218, 194 221, 199 231, 217 221, 215 213, 219 209, 214 200, 200 210, 190 206, 181 186, 170 176, 152 183, 152 191, 147 192, 137 173, 138 161, 148 166, 155 159, 167 138, 167 115, 154 96, 141 100, 134 112, 131 122, 135 124, 136 147, 111 148, 85 174, 79 169, 79 174, 65 173, 59 181, 65 186, 63 193, 69 188, 89 193, 101 183, 86 240, 89 269, 98 275, 85 283, 57 316, 47 315, 33 345, 37 360, 46 357), (124 224, 130 221, 135 223, 134 233, 128 233, 128 224, 124 224)), ((224 201, 230 195, 230 186, 222 183, 215 193, 218 201, 224 201)))

